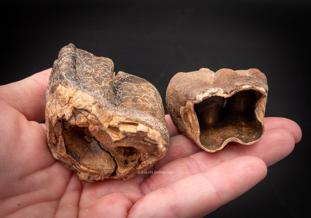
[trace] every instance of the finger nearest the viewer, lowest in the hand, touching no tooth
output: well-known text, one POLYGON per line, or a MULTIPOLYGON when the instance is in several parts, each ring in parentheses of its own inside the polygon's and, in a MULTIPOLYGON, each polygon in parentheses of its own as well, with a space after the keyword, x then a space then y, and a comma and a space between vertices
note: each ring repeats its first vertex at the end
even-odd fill
POLYGON ((147 194, 133 205, 129 217, 202 217, 248 191, 266 174, 265 163, 257 157, 231 159, 147 194))

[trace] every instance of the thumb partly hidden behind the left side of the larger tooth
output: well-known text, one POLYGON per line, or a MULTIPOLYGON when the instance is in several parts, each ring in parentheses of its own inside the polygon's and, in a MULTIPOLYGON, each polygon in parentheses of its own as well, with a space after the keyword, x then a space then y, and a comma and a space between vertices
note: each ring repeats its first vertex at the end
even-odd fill
POLYGON ((44 70, 21 81, 0 86, 0 98, 21 112, 28 120, 44 120, 45 90, 51 69, 44 70))

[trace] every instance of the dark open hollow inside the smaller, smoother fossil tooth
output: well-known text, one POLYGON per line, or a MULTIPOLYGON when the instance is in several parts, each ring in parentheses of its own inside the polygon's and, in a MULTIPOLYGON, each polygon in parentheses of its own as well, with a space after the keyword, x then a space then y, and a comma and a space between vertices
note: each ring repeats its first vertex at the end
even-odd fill
POLYGON ((230 137, 244 143, 260 138, 263 130, 256 118, 255 106, 261 97, 256 90, 242 90, 229 98, 211 96, 194 104, 201 144, 215 150, 230 137))

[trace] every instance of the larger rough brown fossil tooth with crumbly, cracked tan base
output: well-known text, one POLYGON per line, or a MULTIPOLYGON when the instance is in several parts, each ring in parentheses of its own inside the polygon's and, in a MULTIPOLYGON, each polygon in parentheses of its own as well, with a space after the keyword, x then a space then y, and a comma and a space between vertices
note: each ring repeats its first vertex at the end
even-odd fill
POLYGON ((46 99, 49 148, 82 181, 129 179, 166 153, 169 133, 158 90, 142 78, 114 75, 109 58, 65 46, 46 99))

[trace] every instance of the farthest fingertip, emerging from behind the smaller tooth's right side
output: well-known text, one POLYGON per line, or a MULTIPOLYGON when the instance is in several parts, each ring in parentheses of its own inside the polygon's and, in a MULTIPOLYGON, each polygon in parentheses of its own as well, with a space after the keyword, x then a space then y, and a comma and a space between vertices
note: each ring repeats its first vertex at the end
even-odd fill
POLYGON ((293 135, 296 144, 301 140, 302 133, 299 125, 290 119, 281 117, 267 117, 264 119, 264 123, 266 129, 286 129, 293 135))

